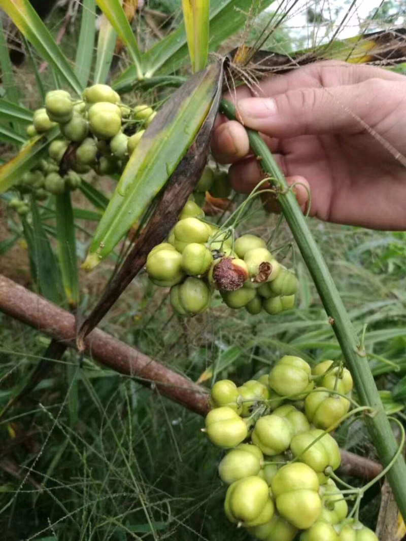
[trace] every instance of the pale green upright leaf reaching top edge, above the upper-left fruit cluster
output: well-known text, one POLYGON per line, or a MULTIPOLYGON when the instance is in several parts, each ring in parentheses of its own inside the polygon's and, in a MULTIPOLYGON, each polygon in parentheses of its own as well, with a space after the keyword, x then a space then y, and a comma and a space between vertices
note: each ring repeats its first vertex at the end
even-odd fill
POLYGON ((93 58, 94 38, 96 35, 96 4, 95 0, 84 0, 82 5, 82 22, 79 42, 77 44, 75 74, 86 87, 93 58))

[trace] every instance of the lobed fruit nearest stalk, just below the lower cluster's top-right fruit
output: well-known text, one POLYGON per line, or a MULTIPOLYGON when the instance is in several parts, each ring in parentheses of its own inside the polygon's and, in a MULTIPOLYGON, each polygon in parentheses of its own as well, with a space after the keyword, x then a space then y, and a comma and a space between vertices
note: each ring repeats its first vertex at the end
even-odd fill
POLYGON ((348 412, 350 402, 344 397, 332 395, 323 387, 310 393, 305 399, 305 413, 310 423, 317 428, 330 428, 348 412))

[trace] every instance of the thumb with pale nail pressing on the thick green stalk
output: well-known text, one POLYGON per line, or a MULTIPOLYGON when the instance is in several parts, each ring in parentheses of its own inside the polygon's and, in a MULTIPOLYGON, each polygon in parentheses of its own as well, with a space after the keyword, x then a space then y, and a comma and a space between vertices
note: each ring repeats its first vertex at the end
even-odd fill
POLYGON ((300 88, 273 97, 244 98, 237 102, 237 114, 244 126, 278 138, 357 133, 365 129, 365 124, 376 124, 377 113, 381 116, 387 108, 382 99, 388 91, 382 89, 385 84, 388 82, 375 79, 349 86, 300 88), (379 85, 379 91, 372 90, 371 83, 379 85))

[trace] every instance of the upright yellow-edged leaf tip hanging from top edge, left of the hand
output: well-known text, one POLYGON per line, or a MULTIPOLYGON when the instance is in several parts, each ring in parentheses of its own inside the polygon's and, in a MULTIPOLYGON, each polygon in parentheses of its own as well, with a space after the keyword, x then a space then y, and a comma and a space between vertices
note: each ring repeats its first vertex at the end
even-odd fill
POLYGON ((182 0, 187 47, 193 73, 205 69, 208 55, 209 0, 182 0))

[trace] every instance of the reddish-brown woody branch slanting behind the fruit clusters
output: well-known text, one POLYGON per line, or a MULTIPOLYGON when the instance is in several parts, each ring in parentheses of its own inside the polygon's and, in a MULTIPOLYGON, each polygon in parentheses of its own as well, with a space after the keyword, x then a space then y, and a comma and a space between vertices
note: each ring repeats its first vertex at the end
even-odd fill
MULTIPOLYGON (((1 274, 0 311, 76 348, 72 314, 1 274)), ((109 334, 95 329, 85 339, 84 346, 84 353, 100 364, 132 376, 143 385, 156 387, 162 395, 195 413, 206 415, 208 412, 208 395, 204 388, 109 334)), ((346 475, 370 480, 382 471, 382 466, 372 460, 348 451, 341 451, 341 454, 340 470, 346 475)))

